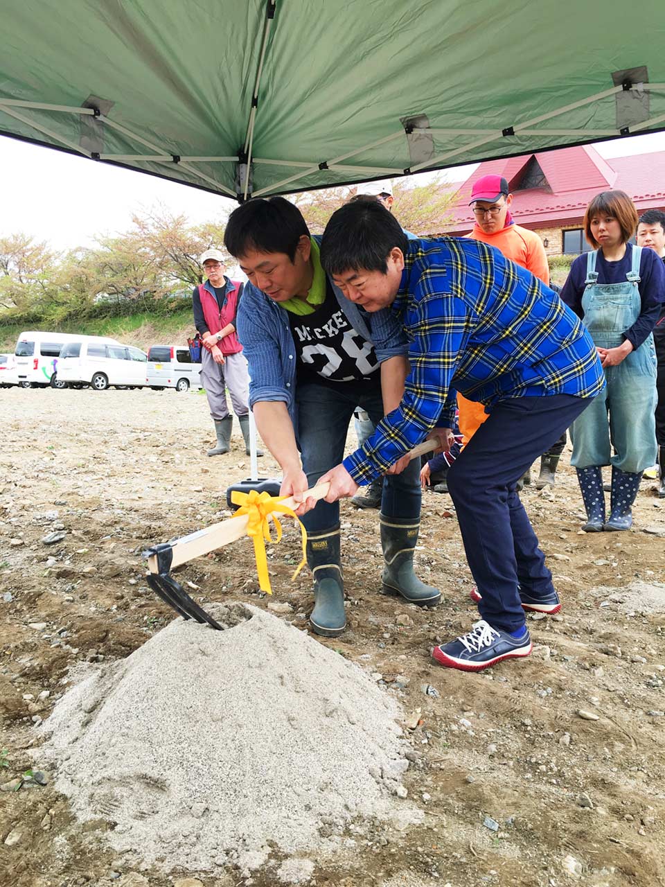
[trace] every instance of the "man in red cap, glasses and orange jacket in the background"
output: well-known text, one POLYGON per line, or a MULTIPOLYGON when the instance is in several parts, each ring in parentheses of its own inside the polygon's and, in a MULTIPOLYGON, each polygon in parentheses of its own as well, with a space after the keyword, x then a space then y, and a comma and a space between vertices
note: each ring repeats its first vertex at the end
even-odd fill
MULTIPOLYGON (((502 176, 482 176, 473 183, 469 203, 473 208, 475 224, 467 237, 489 243, 490 247, 497 247, 506 259, 531 271, 549 287, 550 267, 543 241, 535 232, 515 224, 510 211, 512 194, 507 180, 502 176)), ((466 443, 487 419, 487 413, 482 404, 476 404, 459 394, 458 408, 459 430, 466 443)), ((544 486, 553 486, 554 472, 565 445, 564 435, 542 456, 540 477, 536 482, 539 490, 544 486)), ((528 477, 528 472, 525 477, 528 477)), ((523 485, 521 481, 518 489, 520 485, 523 485)))

